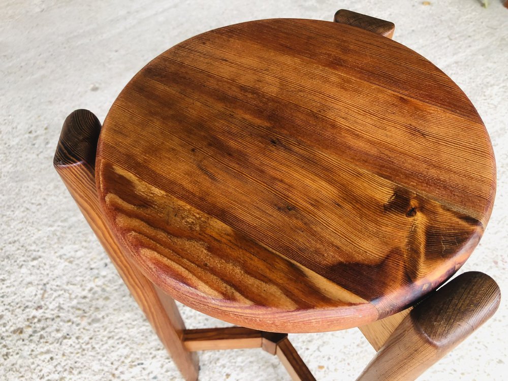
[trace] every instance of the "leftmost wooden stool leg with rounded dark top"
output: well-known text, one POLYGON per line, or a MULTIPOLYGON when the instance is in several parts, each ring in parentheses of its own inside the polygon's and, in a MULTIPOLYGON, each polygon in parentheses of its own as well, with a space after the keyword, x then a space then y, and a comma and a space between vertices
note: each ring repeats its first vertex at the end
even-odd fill
POLYGON ((183 345, 185 326, 174 301, 157 295, 155 286, 130 262, 102 214, 94 164, 101 123, 87 110, 76 110, 63 124, 54 167, 152 328, 187 381, 198 379, 198 357, 183 345))

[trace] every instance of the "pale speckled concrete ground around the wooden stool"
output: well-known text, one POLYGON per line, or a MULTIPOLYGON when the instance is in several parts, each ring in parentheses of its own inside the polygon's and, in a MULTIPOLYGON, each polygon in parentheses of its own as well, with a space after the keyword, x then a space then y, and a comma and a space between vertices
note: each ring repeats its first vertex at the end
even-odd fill
MULTIPOLYGON (((67 114, 101 120, 151 58, 241 21, 331 20, 346 8, 393 21, 470 97, 498 165, 496 205, 460 270, 508 290, 508 9, 490 0, 15 1, 0 3, 0 380, 180 380, 52 168, 67 114)), ((183 308, 187 325, 225 323, 183 308)), ((508 319, 497 314, 423 380, 505 380, 508 319)), ((291 335, 319 380, 355 379, 374 351, 358 330, 291 335)), ((289 380, 261 350, 201 354, 202 380, 289 380)))

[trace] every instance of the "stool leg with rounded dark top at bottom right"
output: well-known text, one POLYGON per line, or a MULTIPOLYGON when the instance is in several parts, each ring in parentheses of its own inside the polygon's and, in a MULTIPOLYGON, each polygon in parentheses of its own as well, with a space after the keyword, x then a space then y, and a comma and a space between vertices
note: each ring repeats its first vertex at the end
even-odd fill
POLYGON ((500 298, 488 275, 459 275, 411 310, 358 381, 416 379, 485 323, 500 298))

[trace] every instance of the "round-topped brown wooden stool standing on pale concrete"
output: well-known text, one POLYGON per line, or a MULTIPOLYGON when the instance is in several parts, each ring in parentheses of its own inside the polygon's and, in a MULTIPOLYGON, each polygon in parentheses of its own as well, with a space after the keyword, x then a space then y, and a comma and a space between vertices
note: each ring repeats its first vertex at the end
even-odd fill
POLYGON ((348 11, 208 31, 153 59, 54 165, 186 380, 255 348, 313 376, 287 333, 360 327, 360 380, 415 379, 496 310, 466 261, 495 162, 464 93, 348 11), (186 330, 173 298, 240 327, 186 330), (275 333, 274 333, 275 332, 275 333), (277 333, 284 332, 284 333, 277 333))

